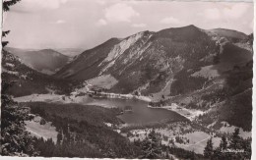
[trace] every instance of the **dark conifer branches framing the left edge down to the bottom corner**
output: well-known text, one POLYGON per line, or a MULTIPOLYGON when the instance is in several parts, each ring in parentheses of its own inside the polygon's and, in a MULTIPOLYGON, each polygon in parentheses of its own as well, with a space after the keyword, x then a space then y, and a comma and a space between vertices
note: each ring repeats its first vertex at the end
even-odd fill
MULTIPOLYGON (((10 10, 10 6, 20 0, 3 1, 3 11, 10 10)), ((5 37, 10 30, 2 32, 5 37)), ((8 41, 2 41, 6 46, 8 41)), ((2 54, 5 52, 2 51, 2 54)), ((1 89, 1 155, 5 156, 34 156, 37 153, 32 145, 32 136, 26 132, 25 121, 31 120, 30 109, 14 102, 7 89, 15 84, 15 81, 2 80, 1 89)))

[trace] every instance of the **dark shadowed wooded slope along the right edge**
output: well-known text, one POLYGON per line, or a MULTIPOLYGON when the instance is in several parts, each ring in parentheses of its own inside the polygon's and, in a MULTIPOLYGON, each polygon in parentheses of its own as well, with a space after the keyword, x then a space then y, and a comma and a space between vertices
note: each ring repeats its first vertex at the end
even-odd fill
MULTIPOLYGON (((235 67, 229 71, 224 86, 224 105, 217 115, 220 121, 231 126, 242 128, 244 131, 252 129, 252 66, 251 61, 244 66, 235 67)), ((222 98, 223 94, 219 94, 222 98)), ((222 99, 224 99, 222 98, 222 99)))

